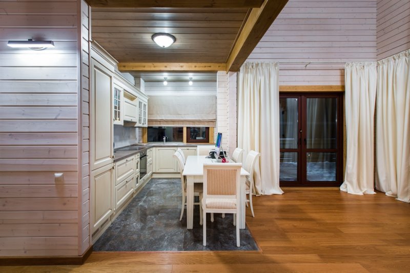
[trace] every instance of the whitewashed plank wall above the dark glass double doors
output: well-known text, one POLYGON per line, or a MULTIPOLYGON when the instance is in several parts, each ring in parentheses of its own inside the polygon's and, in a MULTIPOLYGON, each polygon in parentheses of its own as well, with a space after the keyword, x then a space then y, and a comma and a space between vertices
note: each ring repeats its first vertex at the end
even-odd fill
POLYGON ((320 86, 375 60, 376 0, 289 0, 247 61, 280 62, 281 86, 320 86))

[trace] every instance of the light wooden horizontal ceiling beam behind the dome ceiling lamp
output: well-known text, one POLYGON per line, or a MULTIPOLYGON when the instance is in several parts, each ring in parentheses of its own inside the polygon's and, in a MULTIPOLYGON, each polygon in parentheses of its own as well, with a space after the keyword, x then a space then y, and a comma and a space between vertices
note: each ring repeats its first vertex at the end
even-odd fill
POLYGON ((195 72, 226 71, 226 64, 216 62, 118 62, 120 72, 195 72))

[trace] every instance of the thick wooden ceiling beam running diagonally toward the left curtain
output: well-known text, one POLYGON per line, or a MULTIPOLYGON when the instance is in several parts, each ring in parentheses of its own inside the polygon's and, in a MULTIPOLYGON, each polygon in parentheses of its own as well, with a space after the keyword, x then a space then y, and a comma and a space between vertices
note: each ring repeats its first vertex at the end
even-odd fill
POLYGON ((227 72, 239 71, 286 3, 288 0, 265 0, 260 8, 252 9, 228 57, 227 72))

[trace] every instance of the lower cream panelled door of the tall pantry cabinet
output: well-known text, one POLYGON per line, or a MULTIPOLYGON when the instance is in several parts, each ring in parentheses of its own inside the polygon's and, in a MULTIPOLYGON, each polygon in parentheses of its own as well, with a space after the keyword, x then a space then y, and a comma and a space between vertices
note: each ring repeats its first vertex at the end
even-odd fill
POLYGON ((101 167, 90 175, 90 222, 92 233, 113 214, 113 164, 101 167))

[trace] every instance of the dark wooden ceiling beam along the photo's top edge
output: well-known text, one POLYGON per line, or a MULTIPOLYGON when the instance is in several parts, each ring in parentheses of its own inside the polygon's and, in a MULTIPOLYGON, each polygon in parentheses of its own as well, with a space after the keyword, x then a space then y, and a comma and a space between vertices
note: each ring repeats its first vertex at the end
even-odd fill
POLYGON ((263 0, 86 0, 93 8, 259 8, 263 0))

